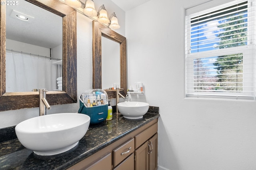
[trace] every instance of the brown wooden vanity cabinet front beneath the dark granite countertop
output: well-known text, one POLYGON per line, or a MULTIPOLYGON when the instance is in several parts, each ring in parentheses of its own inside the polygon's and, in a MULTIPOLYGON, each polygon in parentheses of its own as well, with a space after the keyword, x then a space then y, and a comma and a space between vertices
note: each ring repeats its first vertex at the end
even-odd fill
POLYGON ((68 170, 156 170, 158 119, 127 134, 68 170))

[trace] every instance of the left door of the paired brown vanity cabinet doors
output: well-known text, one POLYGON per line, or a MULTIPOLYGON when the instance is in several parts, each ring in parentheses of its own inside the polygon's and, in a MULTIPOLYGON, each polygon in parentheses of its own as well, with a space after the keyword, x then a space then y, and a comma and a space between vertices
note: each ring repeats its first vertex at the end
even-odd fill
POLYGON ((148 141, 135 150, 135 170, 148 170, 148 141))

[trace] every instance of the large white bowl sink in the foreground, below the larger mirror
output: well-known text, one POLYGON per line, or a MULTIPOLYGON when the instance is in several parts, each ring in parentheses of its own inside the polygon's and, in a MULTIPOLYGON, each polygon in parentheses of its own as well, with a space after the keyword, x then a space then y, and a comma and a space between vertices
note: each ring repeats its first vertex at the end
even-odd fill
POLYGON ((46 156, 70 150, 86 134, 90 117, 81 113, 38 116, 15 127, 20 143, 35 154, 46 156))

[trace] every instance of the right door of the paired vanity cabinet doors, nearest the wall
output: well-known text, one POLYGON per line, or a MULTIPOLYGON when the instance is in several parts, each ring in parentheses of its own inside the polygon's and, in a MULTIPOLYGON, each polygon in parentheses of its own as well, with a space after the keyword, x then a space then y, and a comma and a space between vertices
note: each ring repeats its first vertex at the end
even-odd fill
POLYGON ((149 170, 157 170, 157 156, 158 156, 158 133, 148 140, 150 145, 149 151, 149 170))

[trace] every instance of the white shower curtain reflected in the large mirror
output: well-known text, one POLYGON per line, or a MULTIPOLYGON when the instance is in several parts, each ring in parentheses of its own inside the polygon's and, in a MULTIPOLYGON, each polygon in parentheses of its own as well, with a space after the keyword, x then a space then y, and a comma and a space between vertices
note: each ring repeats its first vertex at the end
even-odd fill
POLYGON ((6 50, 6 92, 57 89, 56 60, 6 50))

